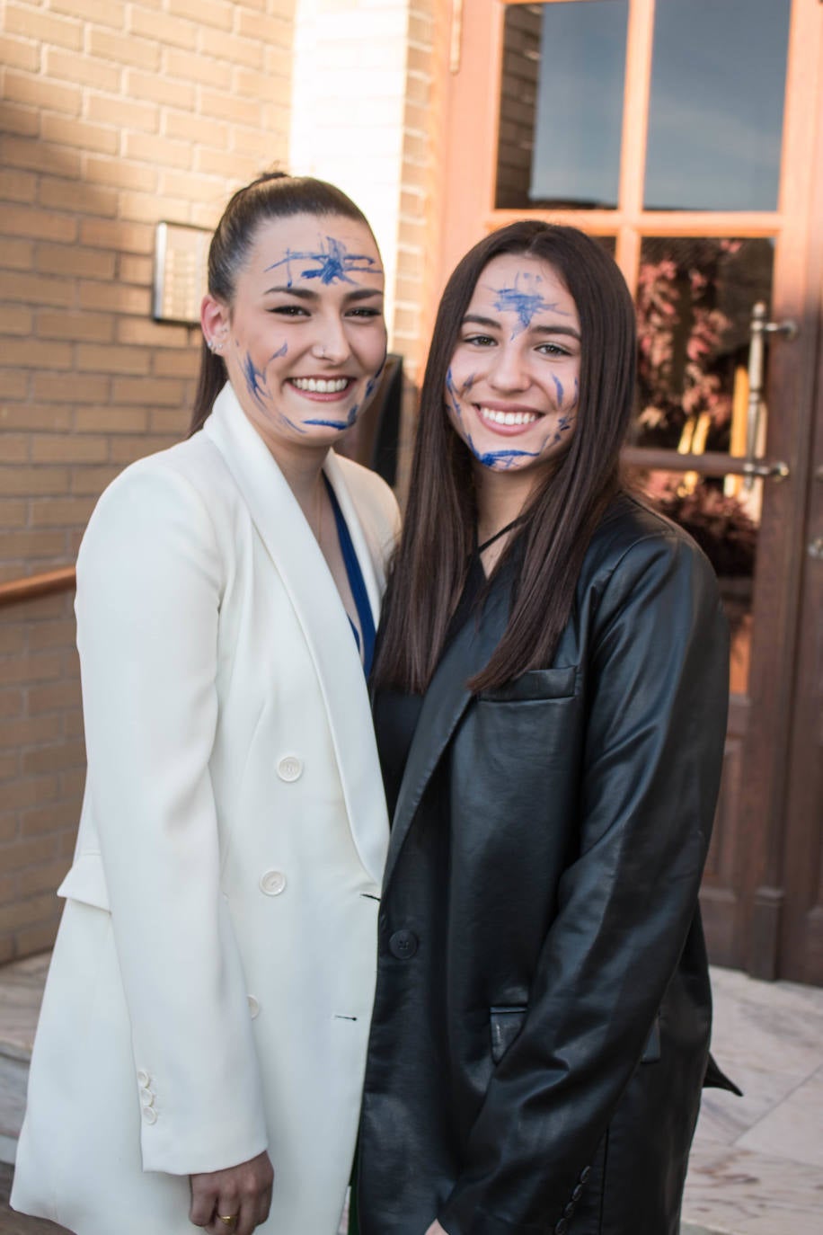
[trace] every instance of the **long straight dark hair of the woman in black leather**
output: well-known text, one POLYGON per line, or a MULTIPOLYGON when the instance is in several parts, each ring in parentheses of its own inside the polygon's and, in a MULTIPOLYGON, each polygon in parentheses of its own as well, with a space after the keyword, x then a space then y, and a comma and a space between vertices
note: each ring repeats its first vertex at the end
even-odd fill
MULTIPOLYGON (((634 306, 606 251, 575 227, 523 220, 471 248, 440 300, 428 356, 403 532, 373 680, 422 692, 437 667, 471 556, 473 461, 445 411, 445 377, 478 279, 503 253, 548 262, 580 317, 580 395, 568 450, 532 495, 518 584, 506 631, 469 683, 481 690, 552 663, 574 604, 593 530, 621 488, 619 451, 633 406, 634 306)), ((497 569, 506 558, 497 563, 497 569)))

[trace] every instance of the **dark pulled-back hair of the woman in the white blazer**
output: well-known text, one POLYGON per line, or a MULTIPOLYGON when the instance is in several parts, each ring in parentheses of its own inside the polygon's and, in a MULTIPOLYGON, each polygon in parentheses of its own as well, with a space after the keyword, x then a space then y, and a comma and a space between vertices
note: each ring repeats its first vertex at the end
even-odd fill
MULTIPOLYGON (((230 309, 234 303, 237 277, 243 269, 258 228, 270 219, 290 215, 342 215, 363 224, 369 221, 342 189, 311 175, 265 172, 230 199, 209 246, 209 291, 230 309)), ((200 374, 189 433, 202 429, 211 405, 226 384, 226 368, 220 356, 210 352, 205 338, 200 346, 200 374)))

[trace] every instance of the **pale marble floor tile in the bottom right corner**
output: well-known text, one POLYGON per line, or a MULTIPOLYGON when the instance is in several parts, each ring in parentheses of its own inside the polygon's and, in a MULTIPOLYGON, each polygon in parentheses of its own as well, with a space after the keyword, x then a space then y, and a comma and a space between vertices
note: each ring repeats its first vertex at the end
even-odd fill
POLYGON ((823 1172, 737 1146, 692 1150, 684 1221, 732 1235, 821 1235, 823 1172))

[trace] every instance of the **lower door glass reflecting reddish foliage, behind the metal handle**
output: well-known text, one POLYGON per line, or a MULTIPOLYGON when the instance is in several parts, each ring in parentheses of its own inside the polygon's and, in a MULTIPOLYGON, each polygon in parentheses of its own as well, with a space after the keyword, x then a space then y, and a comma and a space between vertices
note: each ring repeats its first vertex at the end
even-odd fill
MULTIPOLYGON (((769 304, 772 261, 770 240, 643 241, 633 445, 744 454, 751 306, 769 304)), ((637 471, 634 480, 712 562, 732 626, 732 689, 745 692, 761 485, 749 494, 738 477, 698 472, 637 471)))

